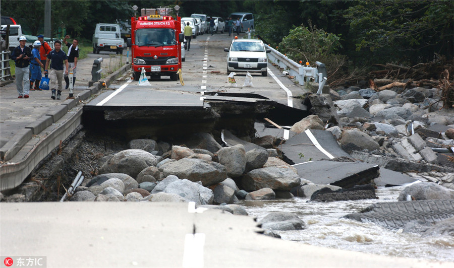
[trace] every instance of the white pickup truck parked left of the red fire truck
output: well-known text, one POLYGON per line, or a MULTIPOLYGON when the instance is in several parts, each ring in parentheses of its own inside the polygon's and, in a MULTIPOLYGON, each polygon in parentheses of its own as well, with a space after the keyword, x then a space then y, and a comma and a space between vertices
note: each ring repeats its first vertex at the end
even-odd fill
POLYGON ((93 53, 99 51, 115 51, 123 53, 125 40, 121 38, 120 26, 118 24, 98 23, 93 34, 93 53))

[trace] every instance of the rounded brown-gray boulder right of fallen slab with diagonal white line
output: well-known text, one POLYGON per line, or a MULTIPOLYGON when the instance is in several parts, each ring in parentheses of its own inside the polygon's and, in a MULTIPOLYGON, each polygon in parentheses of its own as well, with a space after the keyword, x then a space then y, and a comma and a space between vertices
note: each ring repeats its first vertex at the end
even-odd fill
POLYGON ((374 151, 380 145, 369 135, 356 129, 345 130, 341 138, 342 148, 349 151, 374 151))

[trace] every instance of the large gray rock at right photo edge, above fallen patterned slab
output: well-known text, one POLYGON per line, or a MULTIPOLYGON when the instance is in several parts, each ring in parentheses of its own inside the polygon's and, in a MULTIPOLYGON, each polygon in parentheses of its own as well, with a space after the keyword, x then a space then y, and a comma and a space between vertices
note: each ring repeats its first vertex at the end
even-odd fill
POLYGON ((405 187, 398 200, 453 199, 454 191, 432 182, 419 182, 405 187))

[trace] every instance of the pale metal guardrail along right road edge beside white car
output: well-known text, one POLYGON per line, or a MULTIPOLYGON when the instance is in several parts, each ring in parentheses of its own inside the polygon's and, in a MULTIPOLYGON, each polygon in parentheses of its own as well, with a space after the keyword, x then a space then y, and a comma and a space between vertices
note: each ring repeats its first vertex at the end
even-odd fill
POLYGON ((294 76, 298 83, 302 86, 307 83, 307 78, 314 78, 314 82, 318 83, 317 94, 322 93, 323 86, 327 80, 325 64, 316 61, 315 64, 317 65, 317 68, 301 65, 293 59, 288 58, 286 55, 283 55, 276 49, 268 45, 265 45, 265 47, 266 49, 271 50, 271 52, 267 54, 269 61, 277 64, 280 68, 289 72, 289 75, 294 76))

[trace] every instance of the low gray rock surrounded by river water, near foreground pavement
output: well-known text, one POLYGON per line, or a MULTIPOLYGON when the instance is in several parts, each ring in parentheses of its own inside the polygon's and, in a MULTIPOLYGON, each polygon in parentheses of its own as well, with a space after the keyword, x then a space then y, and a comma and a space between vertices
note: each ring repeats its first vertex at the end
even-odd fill
POLYGON ((303 230, 306 224, 293 213, 273 212, 259 221, 263 229, 276 231, 303 230))

